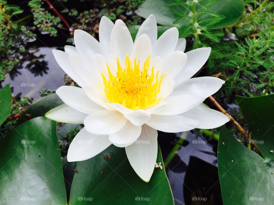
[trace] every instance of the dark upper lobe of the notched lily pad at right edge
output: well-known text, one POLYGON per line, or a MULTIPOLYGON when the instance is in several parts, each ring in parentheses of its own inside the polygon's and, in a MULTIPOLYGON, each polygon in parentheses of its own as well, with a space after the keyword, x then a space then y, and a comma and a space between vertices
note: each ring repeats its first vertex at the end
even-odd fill
POLYGON ((259 97, 236 96, 249 124, 254 142, 264 158, 273 160, 274 153, 274 94, 259 97))

